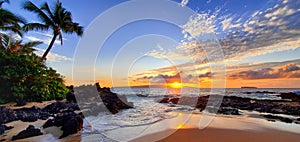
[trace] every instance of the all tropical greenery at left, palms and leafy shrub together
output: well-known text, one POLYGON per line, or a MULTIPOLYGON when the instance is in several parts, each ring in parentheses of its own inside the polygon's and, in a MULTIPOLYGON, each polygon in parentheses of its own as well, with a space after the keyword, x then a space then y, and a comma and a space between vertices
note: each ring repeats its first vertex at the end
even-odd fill
POLYGON ((0 0, 0 103, 16 102, 17 105, 24 105, 30 101, 65 98, 68 89, 63 83, 63 77, 41 60, 46 57, 57 36, 62 41, 62 31, 81 35, 82 27, 72 22, 71 13, 62 8, 59 1, 52 15, 47 3, 42 8, 37 8, 29 1, 25 3, 24 8, 37 13, 44 22, 42 24, 26 24, 22 17, 2 8, 8 2, 0 0), (48 19, 45 13, 41 13, 44 11, 48 12, 48 19), (54 37, 43 57, 34 53, 34 47, 42 42, 24 43, 6 34, 12 32, 22 37, 29 30, 48 29, 53 29, 54 37))

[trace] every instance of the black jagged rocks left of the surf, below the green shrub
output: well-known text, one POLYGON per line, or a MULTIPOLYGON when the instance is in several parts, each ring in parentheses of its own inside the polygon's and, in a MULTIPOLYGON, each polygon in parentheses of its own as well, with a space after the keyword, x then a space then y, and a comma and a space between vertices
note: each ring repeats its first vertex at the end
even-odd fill
MULTIPOLYGON (((90 112, 94 111, 93 108, 97 110, 103 108, 104 111, 108 110, 112 114, 116 114, 120 109, 133 108, 133 103, 127 102, 126 97, 120 97, 118 94, 111 92, 109 88, 101 88, 99 84, 96 84, 96 88, 97 94, 101 97, 103 103, 97 105, 89 104, 90 112)), ((45 120, 42 128, 35 128, 33 125, 29 125, 25 130, 14 135, 11 140, 43 135, 42 129, 53 126, 62 130, 62 135, 59 136, 59 139, 81 131, 84 115, 75 99, 74 88, 69 87, 69 89, 71 91, 67 94, 66 101, 56 101, 43 108, 32 106, 12 109, 7 106, 0 106, 0 135, 13 129, 13 127, 6 126, 6 123, 13 121, 35 122, 39 119, 45 120)), ((89 113, 89 115, 97 115, 98 113, 98 111, 95 111, 94 113, 89 113)), ((0 141, 5 141, 5 139, 0 141)))

